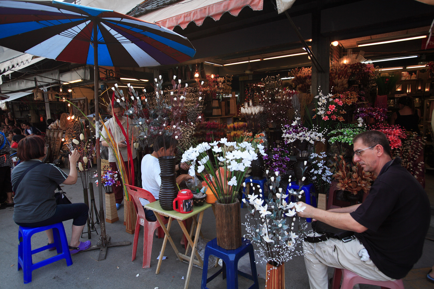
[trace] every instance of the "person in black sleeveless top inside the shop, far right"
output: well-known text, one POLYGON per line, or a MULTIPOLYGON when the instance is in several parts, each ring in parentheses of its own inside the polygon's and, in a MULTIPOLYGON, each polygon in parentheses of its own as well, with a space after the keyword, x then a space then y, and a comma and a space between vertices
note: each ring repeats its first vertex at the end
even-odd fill
POLYGON ((398 98, 399 110, 392 114, 391 124, 398 124, 405 130, 421 133, 418 123, 421 120, 421 110, 414 109, 413 97, 398 98))

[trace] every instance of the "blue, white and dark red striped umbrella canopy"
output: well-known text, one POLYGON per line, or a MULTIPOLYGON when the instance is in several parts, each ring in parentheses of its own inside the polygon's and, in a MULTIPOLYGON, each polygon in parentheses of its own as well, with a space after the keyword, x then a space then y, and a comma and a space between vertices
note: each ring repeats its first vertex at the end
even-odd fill
POLYGON ((112 10, 58 1, 0 0, 0 45, 32 55, 94 65, 144 67, 184 62, 187 38, 112 10))

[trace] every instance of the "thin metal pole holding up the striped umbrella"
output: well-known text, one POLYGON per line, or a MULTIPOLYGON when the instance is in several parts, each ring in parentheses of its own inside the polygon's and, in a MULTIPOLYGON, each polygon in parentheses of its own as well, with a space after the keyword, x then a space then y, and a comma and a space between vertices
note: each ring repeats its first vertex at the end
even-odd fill
POLYGON ((96 168, 98 172, 98 195, 99 195, 99 225, 101 226, 101 246, 107 245, 107 236, 105 234, 105 217, 104 217, 104 204, 102 195, 102 182, 101 182, 101 156, 99 155, 99 95, 98 95, 98 24, 93 23, 93 79, 95 81, 95 150, 96 150, 96 168))

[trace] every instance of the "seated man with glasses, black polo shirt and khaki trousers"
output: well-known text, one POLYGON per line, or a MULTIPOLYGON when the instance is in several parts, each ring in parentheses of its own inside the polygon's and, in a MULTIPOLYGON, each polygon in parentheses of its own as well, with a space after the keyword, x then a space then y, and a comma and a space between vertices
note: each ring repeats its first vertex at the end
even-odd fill
POLYGON ((430 205, 421 184, 390 157, 387 137, 377 130, 353 139, 354 162, 378 178, 362 204, 324 211, 306 206, 301 217, 354 231, 355 240, 304 241, 311 289, 327 289, 327 266, 348 269, 366 279, 387 281, 407 275, 422 255, 430 205))

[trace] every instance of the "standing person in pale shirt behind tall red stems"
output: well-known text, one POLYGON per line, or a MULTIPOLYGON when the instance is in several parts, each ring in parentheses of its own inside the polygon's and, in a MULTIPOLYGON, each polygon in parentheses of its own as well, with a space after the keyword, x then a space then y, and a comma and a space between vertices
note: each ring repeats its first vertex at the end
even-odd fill
MULTIPOLYGON (((113 115, 113 113, 114 113, 118 117, 119 121, 122 124, 122 127, 125 130, 125 133, 127 133, 127 136, 129 138, 129 144, 131 147, 132 141, 135 141, 136 137, 138 136, 137 127, 135 127, 132 124, 132 120, 130 118, 123 116, 124 109, 117 102, 114 103, 113 110, 112 110, 112 104, 109 104, 109 106, 107 107, 107 112, 111 115, 113 115), (128 122, 128 129, 127 129, 127 122, 128 122)), ((112 117, 111 119, 107 120, 104 124, 105 124, 105 127, 107 128, 107 130, 110 130, 112 132, 113 139, 118 144, 119 153, 122 155, 122 158, 124 160, 125 169, 127 169, 127 172, 129 172, 130 167, 128 166, 128 158, 129 157, 128 157, 127 142, 126 142, 124 134, 122 133, 121 127, 119 127, 118 123, 116 122, 115 117, 112 117)), ((102 128, 101 135, 104 136, 105 139, 108 138, 108 134, 107 134, 107 131, 105 130, 105 128, 102 128)), ((99 139, 101 141, 101 144, 103 146, 109 146, 109 143, 107 143, 102 136, 99 139)), ((116 148, 114 148, 114 149, 116 149, 116 148)), ((137 154, 136 154, 136 151, 135 151, 134 146, 133 146, 132 159, 129 160, 130 166, 131 166, 131 162, 135 161, 136 156, 137 156, 137 154)), ((116 165, 116 158, 113 155, 113 152, 111 149, 109 149, 109 163, 110 163, 110 167, 112 168, 113 171, 119 171, 118 166, 116 165)), ((121 179, 121 182, 122 182, 122 179, 121 179)), ((115 193, 116 209, 119 210, 121 203, 122 203, 122 200, 124 199, 124 187, 123 187, 123 185, 119 185, 119 186, 113 186, 112 188, 113 188, 113 192, 115 193)))

